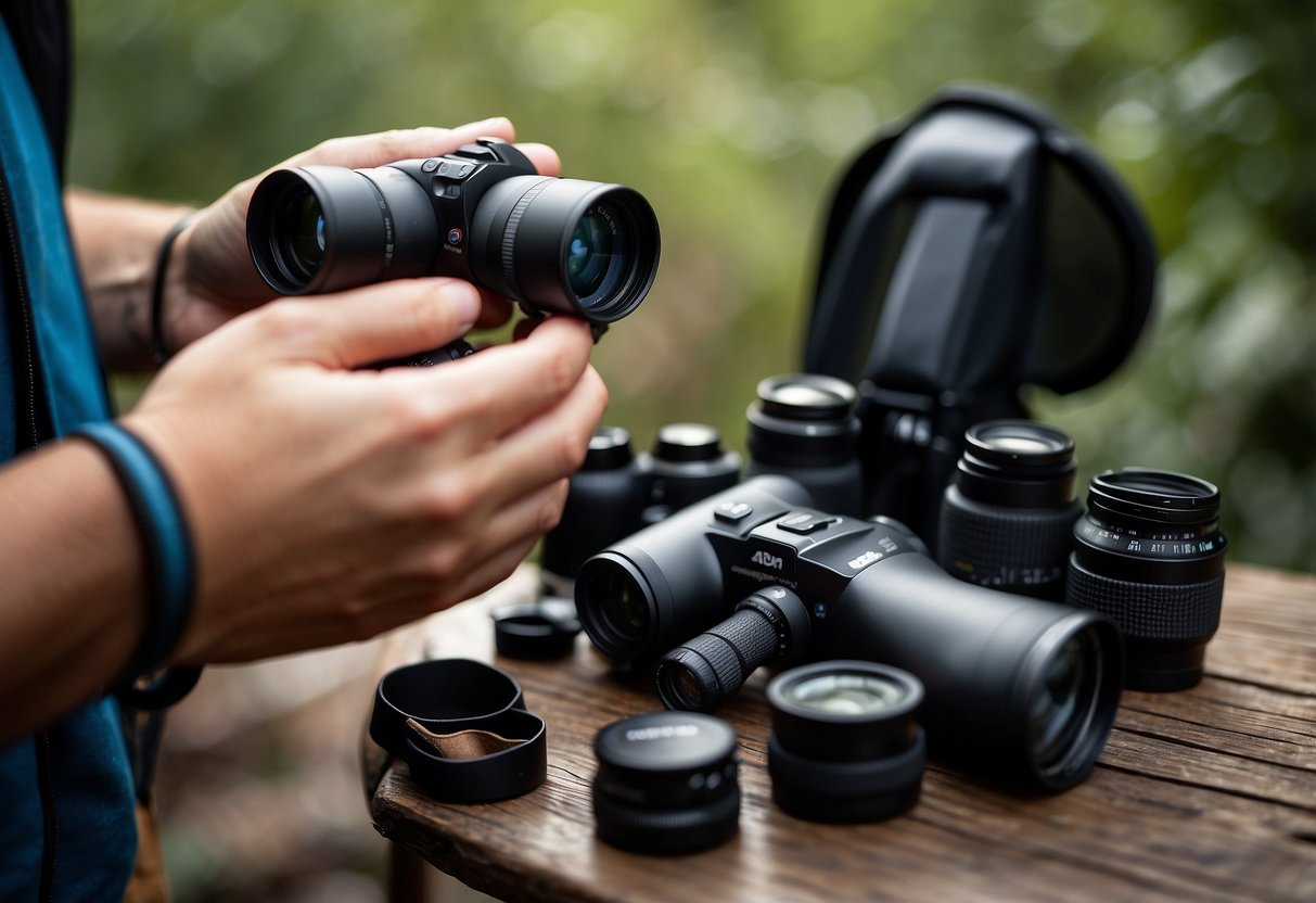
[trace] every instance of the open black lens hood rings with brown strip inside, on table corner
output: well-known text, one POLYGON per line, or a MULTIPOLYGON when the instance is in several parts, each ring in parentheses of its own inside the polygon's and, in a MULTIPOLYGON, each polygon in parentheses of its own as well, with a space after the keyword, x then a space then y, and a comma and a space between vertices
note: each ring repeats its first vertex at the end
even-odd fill
POLYGON ((434 799, 491 803, 547 777, 546 727, 524 706, 521 684, 483 662, 405 665, 379 682, 370 737, 407 762, 434 799))

